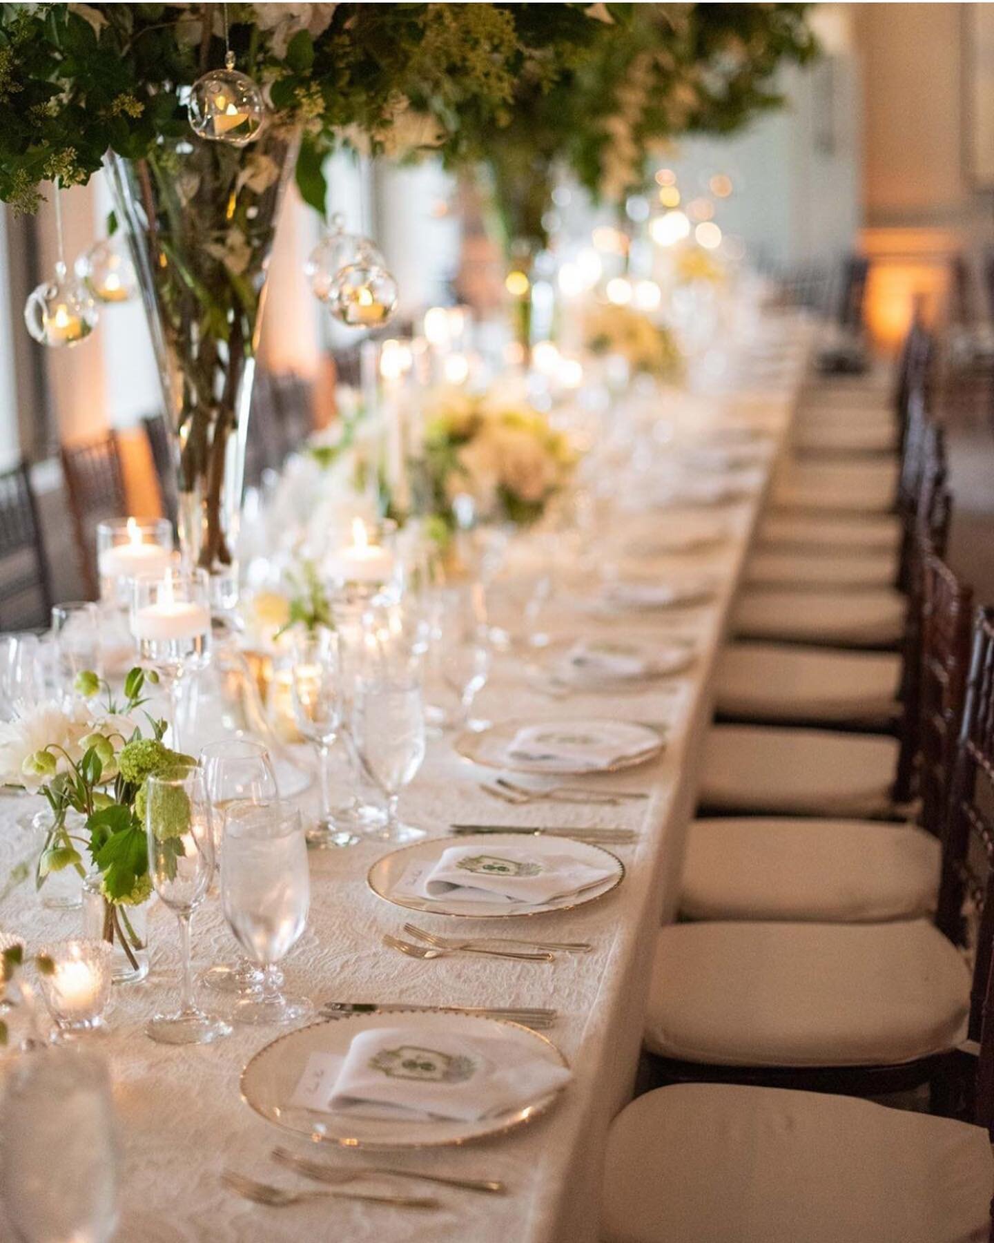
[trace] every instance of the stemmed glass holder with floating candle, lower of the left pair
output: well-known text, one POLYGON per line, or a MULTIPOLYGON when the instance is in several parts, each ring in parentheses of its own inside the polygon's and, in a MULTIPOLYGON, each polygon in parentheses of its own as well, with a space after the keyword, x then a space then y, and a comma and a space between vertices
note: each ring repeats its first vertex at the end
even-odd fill
POLYGON ((210 656, 210 579, 206 571, 166 571, 134 579, 130 631, 143 663, 169 694, 173 747, 181 750, 184 674, 210 656))

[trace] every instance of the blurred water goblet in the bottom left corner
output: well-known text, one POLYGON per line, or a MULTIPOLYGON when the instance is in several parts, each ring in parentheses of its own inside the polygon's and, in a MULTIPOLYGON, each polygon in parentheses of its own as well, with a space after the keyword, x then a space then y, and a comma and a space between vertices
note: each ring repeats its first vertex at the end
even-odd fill
POLYGON ((111 1076, 94 1053, 40 1049, 11 1063, 0 1103, 0 1199, 16 1239, 109 1243, 114 1130, 111 1076))

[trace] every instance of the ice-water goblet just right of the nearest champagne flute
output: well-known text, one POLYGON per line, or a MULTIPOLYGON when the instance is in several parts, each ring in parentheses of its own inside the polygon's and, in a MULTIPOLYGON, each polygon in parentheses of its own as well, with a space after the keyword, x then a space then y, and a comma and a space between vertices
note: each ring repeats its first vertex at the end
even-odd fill
POLYGON ((311 1002, 287 997, 273 965, 293 948, 307 926, 311 876, 301 813, 275 800, 234 803, 225 812, 221 901, 239 945, 263 968, 262 988, 242 997, 231 1017, 240 1023, 292 1023, 311 1002))

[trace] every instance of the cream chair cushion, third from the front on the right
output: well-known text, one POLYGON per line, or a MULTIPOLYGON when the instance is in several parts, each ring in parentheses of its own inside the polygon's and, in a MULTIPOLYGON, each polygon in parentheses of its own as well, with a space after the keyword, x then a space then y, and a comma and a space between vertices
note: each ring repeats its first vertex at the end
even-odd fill
POLYGON ((695 820, 681 914, 692 920, 883 922, 931 915, 939 843, 878 820, 695 820))

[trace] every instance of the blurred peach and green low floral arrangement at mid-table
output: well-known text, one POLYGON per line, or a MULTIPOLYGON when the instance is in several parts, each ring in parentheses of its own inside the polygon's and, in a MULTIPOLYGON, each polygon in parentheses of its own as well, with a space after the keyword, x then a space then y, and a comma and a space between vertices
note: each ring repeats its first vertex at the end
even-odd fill
POLYGON ((460 496, 471 498, 477 520, 536 522, 575 464, 567 436, 524 401, 461 389, 426 395, 415 491, 417 507, 432 515, 441 536, 454 526, 460 496))

